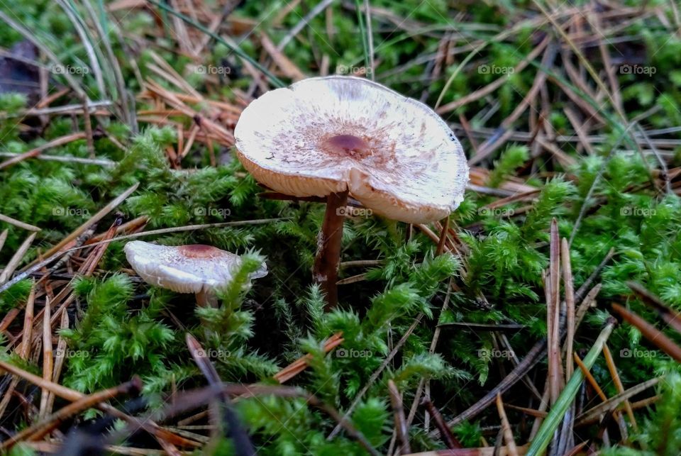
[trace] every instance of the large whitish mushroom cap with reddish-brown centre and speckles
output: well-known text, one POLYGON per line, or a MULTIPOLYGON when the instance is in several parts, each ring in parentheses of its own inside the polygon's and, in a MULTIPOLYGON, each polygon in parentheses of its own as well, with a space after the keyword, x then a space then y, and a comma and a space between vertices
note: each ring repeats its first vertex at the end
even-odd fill
POLYGON ((435 111, 357 77, 304 79, 268 91, 241 113, 239 160, 291 196, 348 190, 388 218, 425 223, 463 201, 468 165, 435 111))

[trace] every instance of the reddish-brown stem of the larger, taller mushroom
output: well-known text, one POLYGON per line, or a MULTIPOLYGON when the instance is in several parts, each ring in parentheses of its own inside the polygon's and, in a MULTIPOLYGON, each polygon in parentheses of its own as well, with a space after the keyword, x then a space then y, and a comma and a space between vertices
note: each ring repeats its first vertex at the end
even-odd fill
POLYGON ((332 193, 326 199, 326 213, 317 238, 317 255, 314 258, 312 277, 321 285, 326 294, 326 309, 338 304, 338 264, 341 262, 341 240, 343 239, 343 220, 345 205, 348 204, 348 191, 332 193))

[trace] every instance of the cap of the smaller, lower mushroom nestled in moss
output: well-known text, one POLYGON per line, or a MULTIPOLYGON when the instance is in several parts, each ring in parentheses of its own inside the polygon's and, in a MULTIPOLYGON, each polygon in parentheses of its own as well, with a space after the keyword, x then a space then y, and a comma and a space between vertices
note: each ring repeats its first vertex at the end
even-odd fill
MULTIPOLYGON (((126 244, 128 262, 148 284, 178 293, 199 293, 222 287, 238 271, 241 257, 211 245, 157 245, 133 240, 126 244)), ((267 275, 267 267, 251 279, 267 275)))

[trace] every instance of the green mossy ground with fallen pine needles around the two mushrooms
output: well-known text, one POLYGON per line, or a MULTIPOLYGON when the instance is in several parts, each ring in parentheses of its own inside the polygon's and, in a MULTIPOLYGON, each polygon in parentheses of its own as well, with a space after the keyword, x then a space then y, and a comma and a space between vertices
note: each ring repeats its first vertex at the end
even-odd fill
MULTIPOLYGON (((568 244, 575 306, 592 304, 574 334, 578 355, 616 315, 611 304, 681 343, 673 325, 628 285, 641 284, 668 311, 681 311, 681 6, 553 3, 339 1, 320 11, 308 1, 0 6, 0 46, 15 55, 4 57, 0 71, 21 82, 12 89, 18 94, 1 82, 0 214, 40 228, 14 275, 135 185, 68 247, 131 222, 116 235, 175 228, 143 239, 210 244, 245 258, 218 294, 218 308, 199 309, 193 295, 140 281, 123 254, 126 240, 106 243, 89 274, 81 267, 96 248, 71 252, 0 294, 3 361, 42 375, 40 311, 46 301, 52 312, 67 302, 68 327, 52 321, 54 352, 63 359, 55 382, 94 394, 140 377, 136 408, 125 396, 111 404, 131 406, 136 416, 177 412, 157 421, 199 446, 176 443, 182 450, 243 454, 219 420, 182 423, 207 409, 182 409, 184 394, 206 387, 185 340, 191 333, 223 382, 270 388, 232 406, 259 454, 443 449, 423 397, 444 421, 455 421, 462 447, 511 451, 494 404, 465 421, 455 418, 552 337, 546 283, 555 263, 553 220, 568 244), (441 224, 349 217, 340 304, 325 311, 311 279, 323 204, 265 197, 236 160, 231 135, 240 110, 263 91, 336 72, 371 77, 436 107, 462 140, 472 179, 439 249, 441 224), (16 158, 77 132, 84 135, 16 158), (224 222, 243 223, 214 226, 224 222), (202 227, 182 228, 193 225, 202 227), (262 262, 269 274, 248 287, 248 274, 262 262), (35 321, 27 348, 20 333, 31 289, 35 321), (343 341, 329 352, 325 342, 338 334, 343 341), (67 350, 60 355, 58 347, 67 350), (296 396, 273 376, 303 357, 306 369, 285 382, 299 388, 296 396), (406 438, 394 422, 389 381, 402 396, 406 438), (333 411, 347 413, 364 440, 348 428, 334 432, 333 411)), ((0 265, 7 265, 32 231, 5 221, 0 230, 0 265)), ((569 286, 561 284, 559 301, 569 286)), ((570 444, 567 451, 587 441, 582 452, 679 454, 677 362, 629 323, 616 325, 607 346, 622 389, 662 378, 590 423, 580 418, 602 399, 583 382, 570 400, 572 421, 549 451, 564 454, 561 444, 570 444)), ((563 366, 566 359, 570 353, 563 366)), ((542 353, 502 393, 521 452, 546 411, 535 394, 548 391, 552 362, 542 353)), ((611 367, 600 355, 590 372, 612 400, 621 391, 611 367)), ((6 374, 0 393, 3 440, 48 419, 35 383, 6 374)), ((215 394, 210 401, 217 402, 215 394)), ((67 404, 57 394, 52 410, 67 404)), ((106 413, 84 408, 36 440, 52 450, 82 443, 83 435, 95 435, 99 446, 161 448, 147 430, 104 420, 106 413)), ((46 448, 26 441, 12 451, 46 448)))

